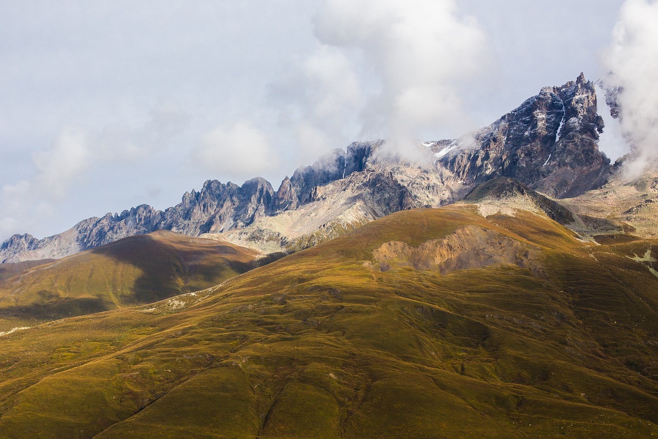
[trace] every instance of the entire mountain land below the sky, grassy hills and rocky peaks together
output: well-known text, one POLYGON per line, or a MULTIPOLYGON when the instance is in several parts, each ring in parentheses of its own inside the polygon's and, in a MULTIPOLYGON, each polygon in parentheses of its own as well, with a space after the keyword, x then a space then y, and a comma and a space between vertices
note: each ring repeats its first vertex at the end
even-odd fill
POLYGON ((595 92, 14 235, 0 436, 657 436, 658 167, 595 92))

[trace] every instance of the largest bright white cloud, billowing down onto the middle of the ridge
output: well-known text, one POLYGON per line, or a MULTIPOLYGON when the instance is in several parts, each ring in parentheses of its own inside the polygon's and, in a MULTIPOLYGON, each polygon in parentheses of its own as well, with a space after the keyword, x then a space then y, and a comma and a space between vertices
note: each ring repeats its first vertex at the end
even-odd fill
POLYGON ((356 71, 365 72, 361 84, 371 95, 361 110, 362 132, 385 134, 403 153, 428 129, 466 129, 460 94, 486 68, 487 44, 455 1, 328 0, 315 34, 359 55, 351 59, 362 64, 356 71))

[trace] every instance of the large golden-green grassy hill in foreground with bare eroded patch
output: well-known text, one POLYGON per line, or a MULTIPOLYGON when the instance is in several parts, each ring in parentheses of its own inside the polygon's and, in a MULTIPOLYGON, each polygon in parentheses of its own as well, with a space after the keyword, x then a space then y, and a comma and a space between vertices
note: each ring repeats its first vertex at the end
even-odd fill
POLYGON ((656 256, 535 214, 398 212, 220 287, 0 337, 0 432, 658 435, 656 256))

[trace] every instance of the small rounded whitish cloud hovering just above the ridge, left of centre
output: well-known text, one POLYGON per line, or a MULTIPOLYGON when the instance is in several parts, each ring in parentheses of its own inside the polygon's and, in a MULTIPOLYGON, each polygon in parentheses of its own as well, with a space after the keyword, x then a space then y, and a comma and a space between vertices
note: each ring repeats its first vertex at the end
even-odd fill
POLYGON ((201 138, 193 157, 207 169, 247 180, 278 167, 278 156, 268 137, 251 122, 218 125, 201 138))

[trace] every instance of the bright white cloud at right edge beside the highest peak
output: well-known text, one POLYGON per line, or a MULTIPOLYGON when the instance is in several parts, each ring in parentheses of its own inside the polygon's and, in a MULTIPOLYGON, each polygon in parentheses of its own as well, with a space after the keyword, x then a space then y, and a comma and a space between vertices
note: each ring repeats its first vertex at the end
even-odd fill
POLYGON ((620 127, 630 142, 624 164, 637 177, 658 160, 658 3, 627 0, 619 11, 613 42, 605 53, 605 80, 619 88, 620 127))

